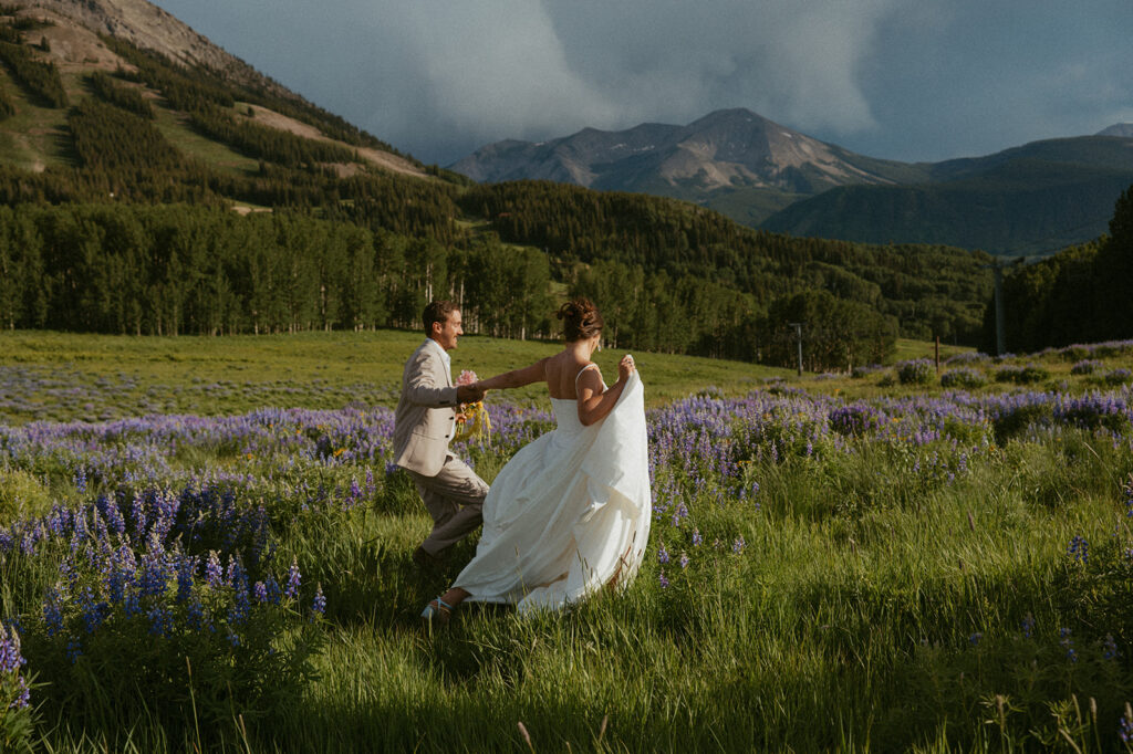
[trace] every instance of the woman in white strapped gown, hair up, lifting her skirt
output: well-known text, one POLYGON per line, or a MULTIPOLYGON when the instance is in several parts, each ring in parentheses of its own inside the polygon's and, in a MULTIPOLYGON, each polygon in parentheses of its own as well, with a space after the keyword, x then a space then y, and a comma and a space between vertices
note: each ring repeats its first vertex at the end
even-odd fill
POLYGON ((555 355, 477 385, 545 382, 556 428, 522 447, 484 502, 476 556, 421 612, 448 623, 465 600, 561 608, 604 585, 627 585, 641 564, 653 513, 645 389, 627 354, 606 387, 590 357, 602 315, 587 299, 559 309, 565 345, 555 355))

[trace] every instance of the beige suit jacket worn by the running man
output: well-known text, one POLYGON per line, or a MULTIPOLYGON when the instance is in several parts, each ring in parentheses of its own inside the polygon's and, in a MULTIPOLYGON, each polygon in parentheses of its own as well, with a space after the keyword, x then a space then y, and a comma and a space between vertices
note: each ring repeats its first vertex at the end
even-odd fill
POLYGON ((457 428, 457 388, 443 353, 432 339, 414 351, 393 414, 393 462, 426 477, 441 471, 457 428))

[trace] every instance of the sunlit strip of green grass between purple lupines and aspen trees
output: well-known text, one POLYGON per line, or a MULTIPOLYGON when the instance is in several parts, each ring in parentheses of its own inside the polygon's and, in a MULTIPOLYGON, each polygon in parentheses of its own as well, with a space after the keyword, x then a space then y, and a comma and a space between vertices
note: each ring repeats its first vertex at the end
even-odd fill
MULTIPOLYGON (((34 374, 41 386, 22 383, 19 405, 0 403, 0 419, 220 414, 283 405, 339 409, 348 403, 392 408, 404 361, 423 339, 408 331, 231 337, 2 332, 3 366, 34 374), (77 393, 50 392, 59 387, 74 387, 77 393)), ((525 367, 561 348, 466 335, 452 352, 453 376, 471 369, 488 377, 525 367)), ((595 355, 610 382, 616 377, 621 354, 607 349, 595 355)), ((765 379, 789 374, 692 357, 639 353, 636 358, 650 405, 709 385, 742 394, 764 385, 765 379)), ((539 401, 544 393, 531 386, 509 393, 508 399, 539 401)))

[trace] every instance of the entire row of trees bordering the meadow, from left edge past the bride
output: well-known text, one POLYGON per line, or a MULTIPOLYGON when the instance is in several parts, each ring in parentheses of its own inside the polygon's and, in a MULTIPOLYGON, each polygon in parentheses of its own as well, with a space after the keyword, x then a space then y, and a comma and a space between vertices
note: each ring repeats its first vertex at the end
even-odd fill
MULTIPOLYGON (((97 103, 100 106, 108 106, 97 103)), ((0 207, 0 326, 130 334, 233 334, 418 326, 433 298, 461 302, 469 332, 550 337, 552 265, 494 235, 461 245, 297 212, 240 216, 187 205, 0 207)), ((894 323, 826 291, 760 308, 695 275, 579 266, 570 291, 599 302, 619 348, 794 363, 879 360, 894 323)))

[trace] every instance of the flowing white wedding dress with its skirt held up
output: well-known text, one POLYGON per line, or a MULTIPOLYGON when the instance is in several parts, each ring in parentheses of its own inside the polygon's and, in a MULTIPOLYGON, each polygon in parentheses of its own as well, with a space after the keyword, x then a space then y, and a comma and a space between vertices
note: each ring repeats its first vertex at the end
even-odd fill
POLYGON ((453 583, 469 600, 556 609, 629 584, 641 564, 653 503, 640 377, 589 427, 574 399, 551 405, 556 428, 520 448, 484 500, 476 557, 453 583))

